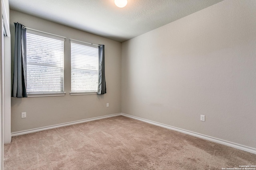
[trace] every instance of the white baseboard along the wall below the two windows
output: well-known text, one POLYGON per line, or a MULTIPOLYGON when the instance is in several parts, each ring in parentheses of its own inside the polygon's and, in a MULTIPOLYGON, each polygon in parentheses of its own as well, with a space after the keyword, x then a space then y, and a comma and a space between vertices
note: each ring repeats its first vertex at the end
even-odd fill
POLYGON ((48 130, 48 129, 54 129, 54 128, 64 127, 64 126, 69 126, 69 125, 75 125, 75 124, 78 124, 78 123, 84 123, 84 122, 88 122, 88 121, 105 119, 105 118, 120 116, 120 115, 121 115, 121 113, 116 113, 116 114, 112 114, 112 115, 94 117, 94 118, 83 119, 83 120, 79 120, 79 121, 72 121, 72 122, 62 123, 62 124, 58 124, 58 125, 52 125, 52 126, 40 127, 40 128, 36 128, 36 129, 29 129, 29 130, 25 130, 25 131, 13 132, 11 134, 12 134, 12 137, 14 137, 14 136, 18 136, 18 135, 24 135, 24 134, 34 133, 34 132, 39 132, 39 131, 45 131, 45 130, 48 130))

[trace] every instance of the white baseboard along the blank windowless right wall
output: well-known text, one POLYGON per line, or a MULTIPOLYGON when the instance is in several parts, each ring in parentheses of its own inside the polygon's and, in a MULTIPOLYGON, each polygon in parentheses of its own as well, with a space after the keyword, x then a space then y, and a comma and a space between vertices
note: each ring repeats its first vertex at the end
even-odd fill
POLYGON ((187 131, 187 130, 180 129, 180 128, 177 128, 177 127, 164 125, 162 123, 157 123, 157 122, 150 121, 150 120, 147 120, 147 119, 142 119, 142 118, 139 118, 139 117, 136 117, 136 116, 127 115, 127 114, 124 114, 124 113, 121 113, 121 115, 125 116, 125 117, 130 117, 132 119, 136 119, 136 120, 139 120, 139 121, 143 121, 143 122, 146 122, 146 123, 150 123, 152 125, 157 125, 157 126, 160 126, 160 127, 164 127, 166 129, 171 129, 171 130, 174 130, 174 131, 178 131, 178 132, 181 132, 181 133, 185 133, 185 134, 188 134, 188 135, 192 135, 192 136, 195 136, 195 137, 206 139, 208 141, 213 141, 213 142, 216 142, 216 143, 227 145, 229 147, 233 147, 233 148, 236 148, 236 149, 240 149, 240 150, 244 150, 244 151, 256 154, 256 149, 255 148, 247 147, 247 146, 240 145, 240 144, 237 144, 237 143, 232 143, 232 142, 229 142, 229 141, 224 141, 222 139, 217 139, 217 138, 214 138, 214 137, 202 135, 200 133, 195 133, 195 132, 192 132, 192 131, 187 131))

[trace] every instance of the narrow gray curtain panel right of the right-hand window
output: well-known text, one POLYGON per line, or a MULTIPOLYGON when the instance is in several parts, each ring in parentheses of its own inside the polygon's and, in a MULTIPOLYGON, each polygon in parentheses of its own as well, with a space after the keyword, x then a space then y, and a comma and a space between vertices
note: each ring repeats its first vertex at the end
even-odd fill
POLYGON ((105 52, 104 45, 99 46, 99 79, 98 79, 98 94, 106 94, 106 79, 105 79, 105 52))

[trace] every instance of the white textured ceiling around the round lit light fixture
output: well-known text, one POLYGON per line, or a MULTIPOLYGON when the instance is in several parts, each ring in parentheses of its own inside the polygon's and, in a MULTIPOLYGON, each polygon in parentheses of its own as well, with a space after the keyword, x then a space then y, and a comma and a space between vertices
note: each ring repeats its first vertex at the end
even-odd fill
POLYGON ((222 0, 128 0, 124 8, 114 0, 9 0, 10 9, 126 41, 188 16, 222 0))

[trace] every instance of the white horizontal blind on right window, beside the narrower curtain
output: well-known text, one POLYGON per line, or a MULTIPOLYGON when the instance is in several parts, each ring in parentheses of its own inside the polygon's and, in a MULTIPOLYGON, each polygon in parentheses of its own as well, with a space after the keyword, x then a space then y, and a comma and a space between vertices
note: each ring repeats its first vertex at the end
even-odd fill
POLYGON ((98 91, 98 47, 70 40, 71 92, 98 91))

